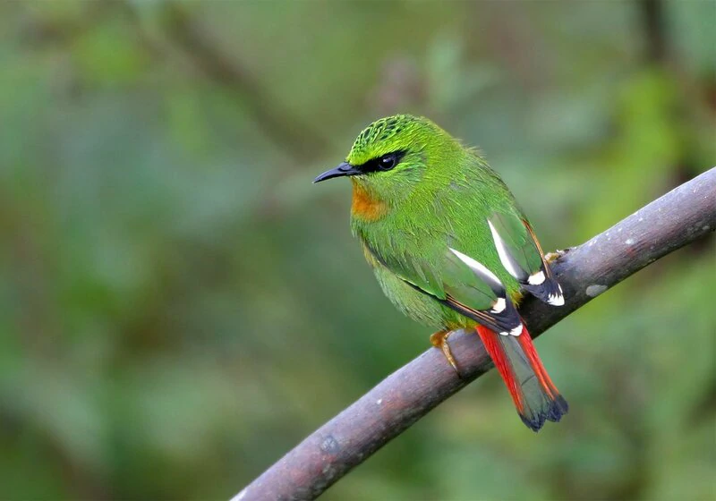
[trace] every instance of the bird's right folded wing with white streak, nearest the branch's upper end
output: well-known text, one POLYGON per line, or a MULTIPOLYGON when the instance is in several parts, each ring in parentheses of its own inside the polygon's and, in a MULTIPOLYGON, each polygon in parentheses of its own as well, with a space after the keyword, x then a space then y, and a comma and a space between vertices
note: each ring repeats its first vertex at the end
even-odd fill
POLYGON ((539 300, 553 306, 563 305, 562 288, 544 259, 530 223, 515 213, 493 212, 488 225, 507 272, 539 300))

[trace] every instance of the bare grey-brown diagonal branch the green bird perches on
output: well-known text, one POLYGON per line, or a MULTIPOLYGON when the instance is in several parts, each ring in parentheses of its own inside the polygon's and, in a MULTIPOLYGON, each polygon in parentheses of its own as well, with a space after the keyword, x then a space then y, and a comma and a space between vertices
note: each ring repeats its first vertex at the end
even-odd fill
MULTIPOLYGON (((554 308, 530 298, 523 301, 520 313, 530 333, 540 335, 609 287, 715 228, 716 167, 589 242, 567 250, 552 265, 566 304, 554 308)), ((490 358, 476 335, 458 331, 449 342, 462 379, 442 352, 430 348, 313 432, 234 501, 318 497, 433 407, 490 369, 490 358)))

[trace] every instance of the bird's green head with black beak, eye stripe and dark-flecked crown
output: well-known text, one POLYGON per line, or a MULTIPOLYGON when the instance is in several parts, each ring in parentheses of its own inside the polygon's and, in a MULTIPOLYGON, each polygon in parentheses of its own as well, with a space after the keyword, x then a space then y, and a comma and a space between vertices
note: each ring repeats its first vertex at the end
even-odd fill
POLYGON ((371 123, 341 165, 314 183, 351 176, 354 187, 376 200, 405 200, 426 178, 438 179, 460 145, 427 118, 393 115, 371 123))

